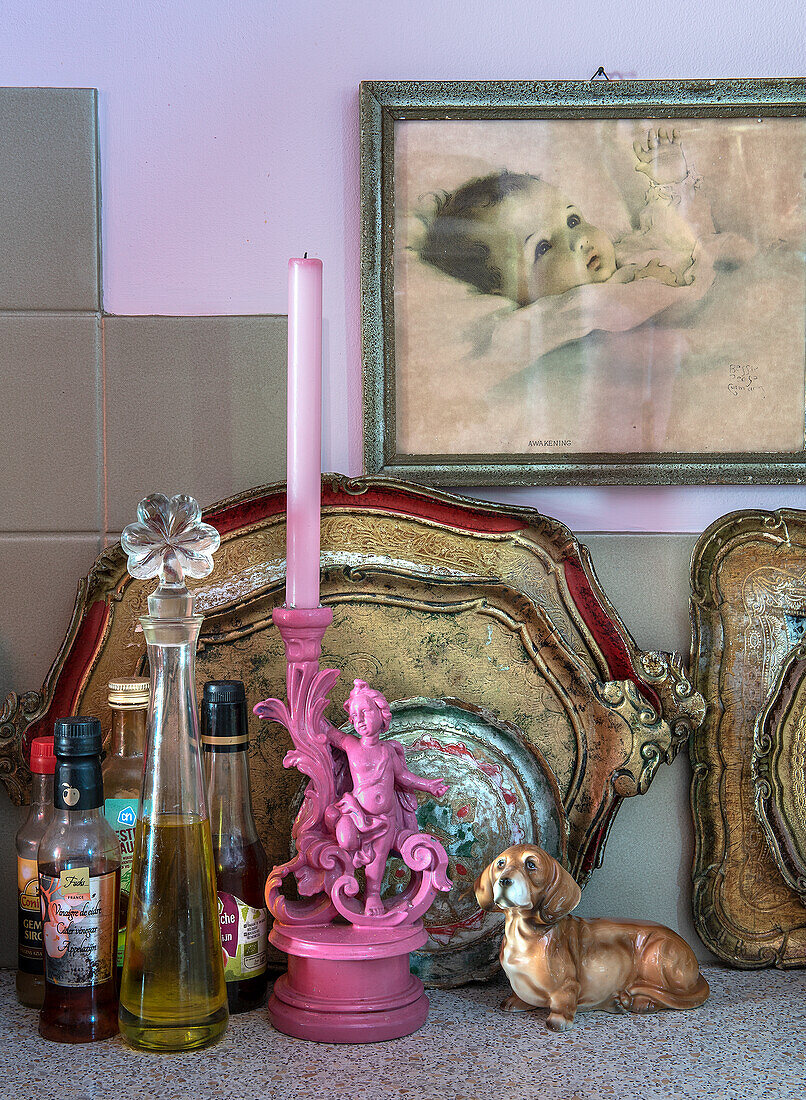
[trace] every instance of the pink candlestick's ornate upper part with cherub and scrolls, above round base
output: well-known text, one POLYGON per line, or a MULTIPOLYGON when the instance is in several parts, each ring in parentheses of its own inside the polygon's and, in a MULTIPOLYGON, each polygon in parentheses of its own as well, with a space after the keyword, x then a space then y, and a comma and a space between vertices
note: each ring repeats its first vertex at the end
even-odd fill
POLYGON ((450 889, 444 848, 418 832, 416 792, 441 798, 448 787, 410 772, 402 745, 380 740, 389 727, 389 706, 364 681, 355 681, 345 704, 355 733, 327 721, 328 696, 339 675, 318 667, 321 638, 332 619, 329 608, 274 614, 286 646, 288 703, 265 700, 254 713, 288 730, 294 748, 284 766, 298 768, 309 783, 292 829, 296 855, 272 871, 266 903, 290 927, 329 925, 339 917, 361 928, 413 925, 437 891, 450 889), (410 879, 400 893, 382 899, 393 854, 408 867, 410 879), (288 875, 310 901, 283 895, 288 875))

